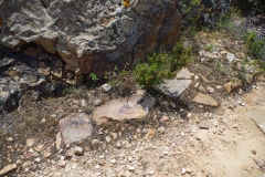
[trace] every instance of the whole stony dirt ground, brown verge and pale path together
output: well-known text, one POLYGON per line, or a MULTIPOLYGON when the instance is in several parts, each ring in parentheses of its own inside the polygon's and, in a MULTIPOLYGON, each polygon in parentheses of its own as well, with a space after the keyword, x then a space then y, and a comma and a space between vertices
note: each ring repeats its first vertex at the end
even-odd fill
POLYGON ((142 121, 93 124, 93 136, 81 143, 55 148, 59 119, 77 112, 91 115, 98 100, 104 104, 114 98, 112 93, 71 87, 61 97, 36 101, 24 95, 17 111, 0 115, 0 171, 15 164, 6 176, 264 177, 265 76, 248 72, 252 80, 243 80, 243 41, 220 32, 197 38, 186 41, 194 43, 197 58, 187 66, 193 77, 179 100, 157 95, 155 108, 142 121), (230 52, 233 62, 226 59, 230 52), (227 93, 224 84, 235 81, 243 85, 227 93), (210 94, 219 106, 193 102, 198 93, 210 94), (95 139, 97 147, 91 143, 95 139), (71 153, 75 146, 84 154, 71 153))

